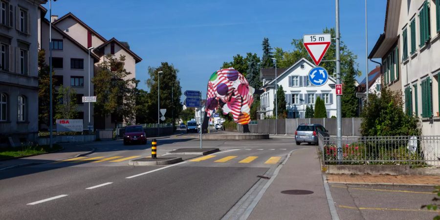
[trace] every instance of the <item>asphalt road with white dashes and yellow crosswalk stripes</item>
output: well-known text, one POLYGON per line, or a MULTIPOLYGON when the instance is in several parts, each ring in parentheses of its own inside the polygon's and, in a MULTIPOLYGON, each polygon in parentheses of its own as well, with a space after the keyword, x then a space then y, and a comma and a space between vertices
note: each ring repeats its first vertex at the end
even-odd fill
MULTIPOLYGON (((198 147, 197 134, 159 139, 158 155, 198 147)), ((293 140, 203 141, 221 152, 175 166, 133 167, 147 145, 93 144, 73 160, 0 172, 1 219, 221 219, 296 146, 293 140), (128 178, 129 177, 129 178, 128 178), (45 200, 52 198, 52 200, 45 200), (38 214, 38 215, 36 215, 38 214)))

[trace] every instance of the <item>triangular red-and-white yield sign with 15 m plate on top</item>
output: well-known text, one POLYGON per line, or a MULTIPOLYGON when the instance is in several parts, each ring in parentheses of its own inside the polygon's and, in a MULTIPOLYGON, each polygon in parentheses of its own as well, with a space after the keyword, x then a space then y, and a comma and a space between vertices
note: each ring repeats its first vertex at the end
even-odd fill
POLYGON ((330 34, 305 34, 304 47, 316 66, 319 66, 331 44, 330 34))

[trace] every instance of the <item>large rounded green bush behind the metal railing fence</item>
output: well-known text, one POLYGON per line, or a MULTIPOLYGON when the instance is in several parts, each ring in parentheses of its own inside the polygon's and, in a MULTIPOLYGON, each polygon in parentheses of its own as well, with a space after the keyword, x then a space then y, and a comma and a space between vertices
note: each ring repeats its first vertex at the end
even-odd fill
POLYGON ((418 119, 408 116, 402 109, 401 91, 383 87, 380 96, 368 95, 361 117, 363 136, 409 136, 419 135, 418 119))

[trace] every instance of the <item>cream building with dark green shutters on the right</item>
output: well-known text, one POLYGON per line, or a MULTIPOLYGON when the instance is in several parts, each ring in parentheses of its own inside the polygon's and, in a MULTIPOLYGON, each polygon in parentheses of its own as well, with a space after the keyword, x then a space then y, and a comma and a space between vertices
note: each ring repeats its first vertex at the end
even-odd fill
POLYGON ((403 108, 420 118, 422 134, 438 135, 440 0, 388 0, 385 31, 370 57, 382 58, 386 85, 393 73, 399 78, 403 108))

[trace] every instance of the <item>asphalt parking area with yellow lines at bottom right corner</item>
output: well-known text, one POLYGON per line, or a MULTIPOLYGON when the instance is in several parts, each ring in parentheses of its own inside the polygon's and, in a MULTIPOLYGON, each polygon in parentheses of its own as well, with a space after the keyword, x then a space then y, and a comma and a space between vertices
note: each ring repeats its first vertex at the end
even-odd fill
POLYGON ((432 220, 432 186, 329 183, 341 220, 432 220))

